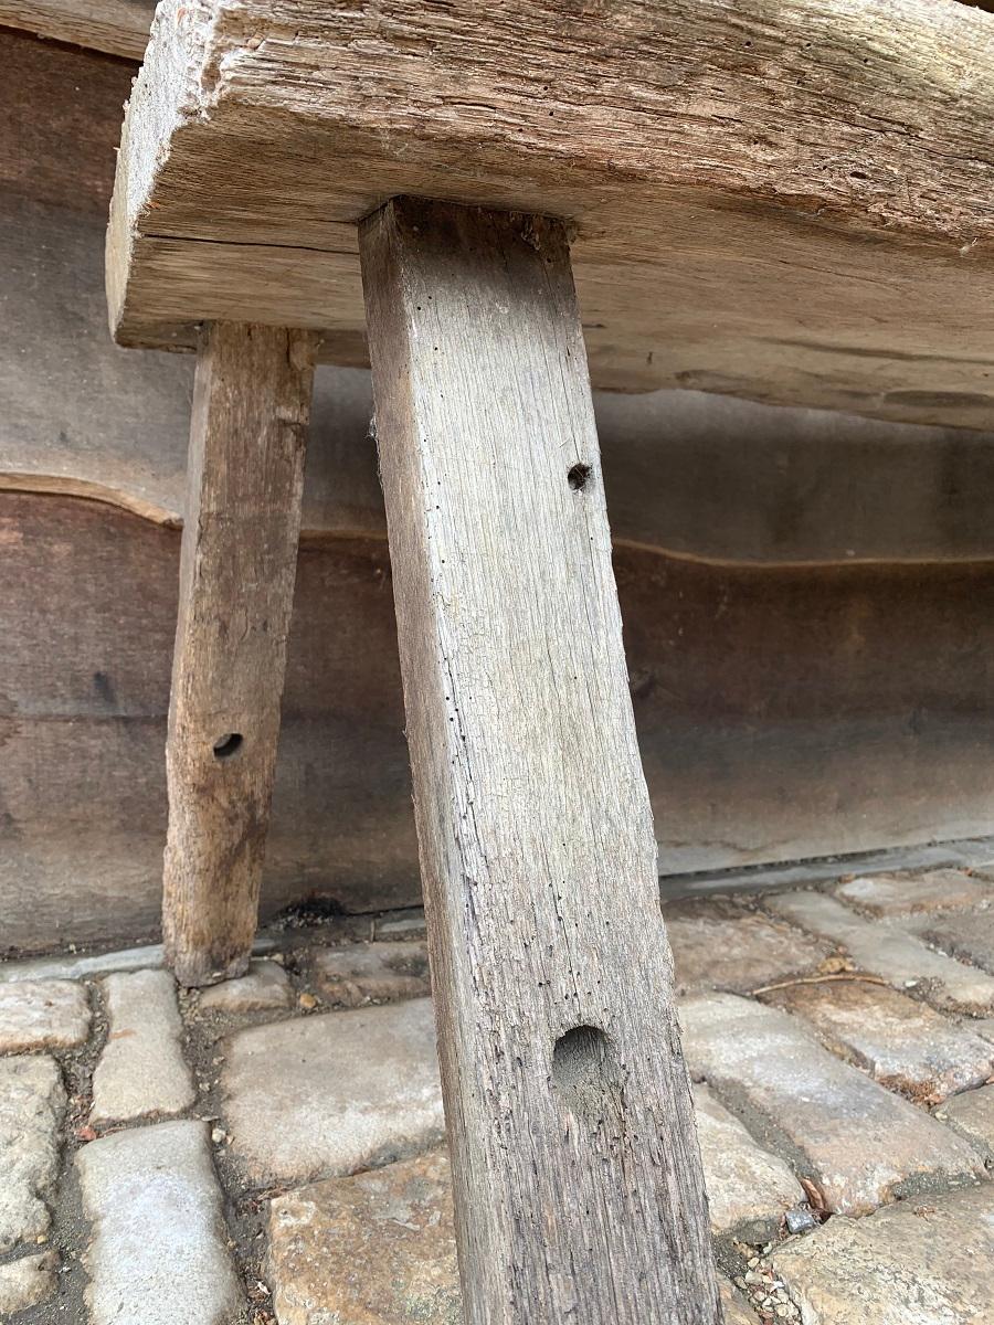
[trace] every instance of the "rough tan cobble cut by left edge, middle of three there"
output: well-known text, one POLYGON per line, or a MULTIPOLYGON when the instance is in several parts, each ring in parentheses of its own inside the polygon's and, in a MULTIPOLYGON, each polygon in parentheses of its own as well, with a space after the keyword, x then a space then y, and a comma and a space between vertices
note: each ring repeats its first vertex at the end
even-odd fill
POLYGON ((0 1059, 0 1252, 48 1232, 65 1104, 54 1059, 0 1059))

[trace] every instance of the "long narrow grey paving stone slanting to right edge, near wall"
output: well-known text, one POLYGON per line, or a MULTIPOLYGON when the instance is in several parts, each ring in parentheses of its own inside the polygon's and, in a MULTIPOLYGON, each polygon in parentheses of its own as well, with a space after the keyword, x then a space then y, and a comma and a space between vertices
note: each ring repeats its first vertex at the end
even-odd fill
POLYGON ((916 988, 930 1003, 982 1016, 994 1010, 994 977, 933 953, 884 921, 868 921, 824 893, 775 893, 763 905, 802 929, 843 945, 865 971, 896 988, 916 988))

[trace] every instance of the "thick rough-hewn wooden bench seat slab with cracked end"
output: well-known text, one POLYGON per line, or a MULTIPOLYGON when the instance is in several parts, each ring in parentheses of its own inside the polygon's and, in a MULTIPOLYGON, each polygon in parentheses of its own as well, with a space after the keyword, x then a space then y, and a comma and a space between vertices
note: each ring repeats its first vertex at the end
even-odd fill
POLYGON ((991 89, 954 0, 166 0, 113 322, 293 307, 355 363, 350 225, 415 193, 571 220, 595 386, 989 427, 991 89))

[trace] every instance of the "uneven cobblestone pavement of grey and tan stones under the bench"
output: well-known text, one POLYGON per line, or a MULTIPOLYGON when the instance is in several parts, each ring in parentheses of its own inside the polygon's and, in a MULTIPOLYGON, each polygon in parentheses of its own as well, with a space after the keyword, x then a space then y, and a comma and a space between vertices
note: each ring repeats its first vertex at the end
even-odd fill
MULTIPOLYGON (((994 1322, 994 867, 664 906, 728 1325, 994 1322)), ((0 1320, 457 1325, 424 921, 0 965, 0 1320)))

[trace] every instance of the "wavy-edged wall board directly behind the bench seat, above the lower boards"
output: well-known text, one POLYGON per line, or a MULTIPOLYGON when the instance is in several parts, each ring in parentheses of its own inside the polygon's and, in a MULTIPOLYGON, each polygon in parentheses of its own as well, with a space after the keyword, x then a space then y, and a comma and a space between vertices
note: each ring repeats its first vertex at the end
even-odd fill
MULTIPOLYGON (((0 486, 179 522, 192 356, 123 351, 106 331, 103 231, 137 66, 21 32, 0 32, 0 486)), ((386 533, 370 409, 367 371, 318 370, 306 538, 386 533)), ((615 543, 728 564, 994 555, 990 433, 693 391, 599 392, 595 409, 615 543)))

